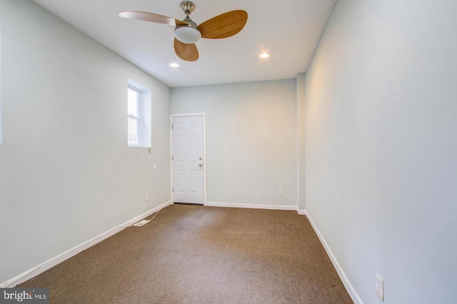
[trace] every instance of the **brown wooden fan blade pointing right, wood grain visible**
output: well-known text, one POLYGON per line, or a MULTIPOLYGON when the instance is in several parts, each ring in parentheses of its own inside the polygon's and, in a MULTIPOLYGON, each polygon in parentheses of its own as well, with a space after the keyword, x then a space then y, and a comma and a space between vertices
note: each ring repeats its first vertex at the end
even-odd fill
POLYGON ((238 34, 248 21, 246 11, 227 11, 199 25, 201 38, 221 39, 238 34))

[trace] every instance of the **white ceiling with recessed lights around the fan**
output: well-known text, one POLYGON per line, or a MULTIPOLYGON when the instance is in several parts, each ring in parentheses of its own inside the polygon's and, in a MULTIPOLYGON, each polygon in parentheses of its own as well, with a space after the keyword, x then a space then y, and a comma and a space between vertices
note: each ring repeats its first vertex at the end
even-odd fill
POLYGON ((197 24, 243 9, 248 22, 227 39, 201 39, 200 58, 174 53, 174 26, 124 19, 151 11, 184 19, 181 0, 34 0, 170 87, 295 78, 306 71, 336 0, 194 0, 197 24), (268 59, 258 56, 268 51, 268 59), (171 68, 176 62, 179 68, 171 68))

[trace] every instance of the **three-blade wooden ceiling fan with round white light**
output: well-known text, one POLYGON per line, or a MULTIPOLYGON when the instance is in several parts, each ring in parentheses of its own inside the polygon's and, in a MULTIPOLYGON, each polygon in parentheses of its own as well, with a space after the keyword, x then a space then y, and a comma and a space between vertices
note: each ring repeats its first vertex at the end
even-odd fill
POLYGON ((189 18, 189 15, 195 9, 194 4, 191 1, 182 1, 181 9, 186 14, 186 18, 183 21, 146 11, 121 11, 118 16, 176 26, 174 29, 174 51, 179 58, 185 61, 199 59, 199 50, 195 43, 201 38, 221 39, 231 37, 238 34, 243 29, 246 21, 248 21, 248 13, 246 11, 236 10, 227 11, 197 25, 189 18))

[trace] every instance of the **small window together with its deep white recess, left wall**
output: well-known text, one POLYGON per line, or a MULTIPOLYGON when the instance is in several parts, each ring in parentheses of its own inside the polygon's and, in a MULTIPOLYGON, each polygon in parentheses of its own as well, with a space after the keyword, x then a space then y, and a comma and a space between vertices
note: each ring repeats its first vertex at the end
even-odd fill
POLYGON ((151 147, 151 90, 131 80, 127 86, 127 146, 151 147))

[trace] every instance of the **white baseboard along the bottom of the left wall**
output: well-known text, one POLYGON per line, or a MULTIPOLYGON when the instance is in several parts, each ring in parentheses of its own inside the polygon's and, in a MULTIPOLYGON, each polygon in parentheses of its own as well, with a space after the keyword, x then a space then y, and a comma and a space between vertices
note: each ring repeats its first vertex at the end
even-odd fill
POLYGON ((131 224, 134 224, 138 221, 140 221, 142 218, 146 218, 146 216, 150 216, 152 213, 155 213, 156 211, 161 210, 162 208, 165 208, 166 206, 171 205, 171 201, 168 201, 166 203, 163 203, 161 206, 158 206, 156 208, 153 208, 149 211, 146 211, 145 213, 136 216, 136 218, 132 218, 130 221, 127 221, 126 223, 123 223, 115 228, 112 228, 105 233, 102 233, 99 236, 96 236, 95 238, 92 238, 91 240, 88 240, 81 245, 77 245, 75 248, 72 248, 64 253, 61 253, 60 255, 57 255, 54 258, 51 258, 50 260, 46 260, 46 262, 41 263, 40 265, 37 265, 34 268, 31 268, 27 270, 24 273, 21 273, 20 275, 16 275, 16 277, 11 278, 10 280, 7 280, 4 283, 0 284, 0 288, 11 288, 14 287, 20 283, 25 282, 26 280, 30 280, 31 278, 34 278, 34 276, 39 275, 40 273, 43 273, 44 271, 48 270, 49 268, 54 267, 55 265, 62 263, 64 260, 68 260, 72 256, 80 253, 83 250, 86 250, 87 248, 95 245, 96 243, 101 242, 102 240, 105 240, 106 238, 109 238, 111 235, 114 235, 118 233, 121 230, 124 230, 126 227, 131 226, 131 224))

